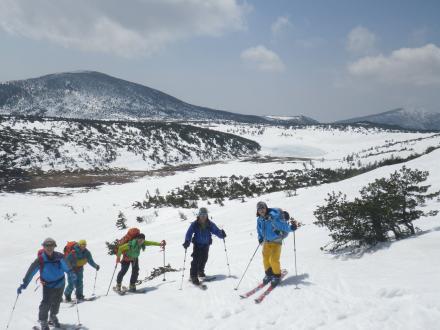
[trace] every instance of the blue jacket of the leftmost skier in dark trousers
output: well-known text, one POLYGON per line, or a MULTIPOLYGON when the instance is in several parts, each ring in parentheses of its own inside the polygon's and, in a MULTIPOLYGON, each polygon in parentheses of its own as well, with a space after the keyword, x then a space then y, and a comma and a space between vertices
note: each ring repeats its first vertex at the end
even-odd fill
POLYGON ((72 270, 67 266, 64 260, 64 255, 59 252, 54 252, 52 258, 49 258, 45 252, 41 253, 42 260, 37 257, 35 261, 29 267, 24 279, 24 287, 27 287, 32 281, 34 275, 40 270, 40 279, 43 285, 48 288, 61 288, 64 287, 64 273, 69 273, 72 270), (40 262, 42 262, 42 268, 40 269, 40 262))

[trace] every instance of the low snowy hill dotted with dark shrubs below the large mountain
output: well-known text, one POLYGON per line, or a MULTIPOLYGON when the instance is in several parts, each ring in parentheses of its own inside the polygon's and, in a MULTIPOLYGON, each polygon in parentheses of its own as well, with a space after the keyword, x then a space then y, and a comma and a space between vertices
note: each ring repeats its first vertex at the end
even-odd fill
POLYGON ((254 154, 256 142, 175 123, 0 117, 0 171, 151 170, 254 154))

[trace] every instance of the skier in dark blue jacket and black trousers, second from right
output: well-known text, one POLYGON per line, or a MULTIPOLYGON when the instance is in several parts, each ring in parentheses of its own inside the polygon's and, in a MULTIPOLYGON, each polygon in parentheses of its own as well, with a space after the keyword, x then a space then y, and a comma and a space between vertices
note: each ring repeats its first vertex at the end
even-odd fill
POLYGON ((212 234, 219 238, 225 238, 226 233, 220 230, 214 222, 208 219, 208 210, 200 208, 197 220, 193 221, 185 235, 183 247, 185 250, 193 243, 193 260, 191 262, 190 276, 193 284, 199 285, 199 277, 204 278, 205 265, 208 261, 209 246, 212 244, 212 234))

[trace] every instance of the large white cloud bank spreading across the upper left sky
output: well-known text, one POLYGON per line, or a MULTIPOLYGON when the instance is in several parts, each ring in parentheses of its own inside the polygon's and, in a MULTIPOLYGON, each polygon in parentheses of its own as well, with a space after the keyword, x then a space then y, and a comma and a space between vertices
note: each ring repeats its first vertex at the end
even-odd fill
POLYGON ((243 29, 248 9, 237 0, 0 0, 0 28, 64 47, 134 56, 243 29))

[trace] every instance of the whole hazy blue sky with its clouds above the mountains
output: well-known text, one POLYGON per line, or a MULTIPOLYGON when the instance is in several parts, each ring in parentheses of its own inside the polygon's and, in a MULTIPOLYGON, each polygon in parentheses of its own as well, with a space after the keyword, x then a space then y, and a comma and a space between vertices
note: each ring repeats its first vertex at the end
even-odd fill
POLYGON ((439 1, 0 0, 0 81, 97 70, 184 101, 331 121, 440 111, 439 1))

